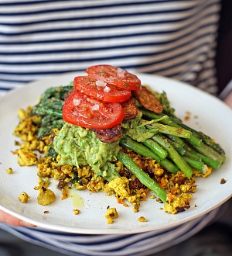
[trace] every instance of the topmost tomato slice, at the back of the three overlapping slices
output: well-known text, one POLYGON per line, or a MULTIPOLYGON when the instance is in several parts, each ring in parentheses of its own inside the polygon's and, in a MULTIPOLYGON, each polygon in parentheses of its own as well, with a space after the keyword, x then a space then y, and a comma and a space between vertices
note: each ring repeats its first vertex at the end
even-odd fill
POLYGON ((96 65, 86 70, 90 78, 98 81, 105 81, 108 84, 116 85, 126 90, 140 90, 141 81, 135 74, 131 74, 121 67, 111 65, 96 65))

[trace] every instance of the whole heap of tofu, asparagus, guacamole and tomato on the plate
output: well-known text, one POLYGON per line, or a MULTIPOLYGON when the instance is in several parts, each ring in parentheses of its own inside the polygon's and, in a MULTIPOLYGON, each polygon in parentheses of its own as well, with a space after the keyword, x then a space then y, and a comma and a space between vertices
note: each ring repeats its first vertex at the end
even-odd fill
POLYGON ((39 204, 55 199, 48 189, 55 178, 63 199, 68 186, 89 189, 138 212, 152 192, 166 213, 188 209, 195 177, 220 168, 223 149, 186 126, 165 92, 152 92, 135 74, 110 65, 86 72, 19 110, 15 136, 23 144, 15 154, 20 165, 38 166, 39 204))

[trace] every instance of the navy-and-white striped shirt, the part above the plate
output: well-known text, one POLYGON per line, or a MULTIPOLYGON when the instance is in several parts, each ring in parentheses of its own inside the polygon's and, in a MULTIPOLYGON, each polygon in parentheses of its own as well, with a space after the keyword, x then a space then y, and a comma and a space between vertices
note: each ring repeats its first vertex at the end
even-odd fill
POLYGON ((0 1, 0 95, 94 64, 217 93, 220 0, 0 1))

